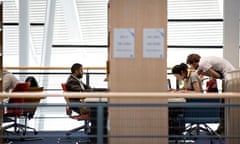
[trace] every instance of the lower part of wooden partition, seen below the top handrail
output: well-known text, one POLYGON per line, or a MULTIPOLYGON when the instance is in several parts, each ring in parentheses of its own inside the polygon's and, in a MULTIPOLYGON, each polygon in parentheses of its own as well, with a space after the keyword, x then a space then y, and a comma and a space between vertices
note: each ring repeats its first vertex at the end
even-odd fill
MULTIPOLYGON (((164 99, 111 99, 111 103, 167 103, 164 99)), ((168 109, 160 107, 112 107, 109 108, 110 135, 133 136, 110 138, 110 144, 167 144, 168 109), (135 136, 135 137, 134 137, 135 136), (139 137, 141 136, 141 137, 139 137), (158 136, 158 137, 154 137, 158 136)))

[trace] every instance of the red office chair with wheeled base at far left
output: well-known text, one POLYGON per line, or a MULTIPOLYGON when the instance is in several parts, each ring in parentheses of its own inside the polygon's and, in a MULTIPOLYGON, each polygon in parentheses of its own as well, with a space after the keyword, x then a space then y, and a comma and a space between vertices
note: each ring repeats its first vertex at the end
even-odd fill
MULTIPOLYGON (((18 83, 12 92, 26 92, 29 88, 29 82, 18 83)), ((24 98, 9 98, 8 104, 23 104, 24 98)), ((6 112, 3 114, 3 122, 13 122, 13 124, 3 127, 3 131, 8 133, 8 129, 14 128, 15 133, 24 132, 25 125, 18 123, 18 118, 23 116, 22 107, 6 107, 6 112)), ((24 134, 24 133, 23 133, 24 134)))

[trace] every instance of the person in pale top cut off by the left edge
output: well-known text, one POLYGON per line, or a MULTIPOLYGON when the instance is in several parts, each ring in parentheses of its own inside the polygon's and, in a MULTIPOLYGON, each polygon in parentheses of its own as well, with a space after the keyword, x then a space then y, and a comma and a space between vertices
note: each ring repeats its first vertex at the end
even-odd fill
POLYGON ((11 92, 19 80, 8 70, 3 69, 3 91, 11 92))

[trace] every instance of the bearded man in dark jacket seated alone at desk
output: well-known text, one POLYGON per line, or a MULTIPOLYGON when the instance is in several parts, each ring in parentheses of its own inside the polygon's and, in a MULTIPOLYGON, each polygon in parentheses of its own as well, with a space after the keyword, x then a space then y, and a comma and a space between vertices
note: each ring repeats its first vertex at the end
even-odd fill
MULTIPOLYGON (((75 63, 71 67, 71 75, 68 77, 66 82, 67 91, 70 92, 84 92, 91 89, 90 86, 84 84, 81 80, 83 77, 83 66, 80 63, 75 63)), ((84 98, 70 98, 70 102, 79 103, 82 102, 84 98)), ((86 114, 89 109, 86 107, 71 107, 71 109, 78 114, 86 114)))

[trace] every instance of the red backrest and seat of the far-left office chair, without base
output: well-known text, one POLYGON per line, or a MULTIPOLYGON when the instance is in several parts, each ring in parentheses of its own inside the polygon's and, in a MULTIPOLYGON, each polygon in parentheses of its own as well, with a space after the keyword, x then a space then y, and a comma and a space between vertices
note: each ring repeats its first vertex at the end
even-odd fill
MULTIPOLYGON (((12 92, 26 92, 30 87, 29 82, 20 82, 14 87, 12 92)), ((9 104, 13 103, 24 103, 24 98, 9 98, 9 104)), ((12 113, 15 115, 21 115, 23 113, 23 109, 21 107, 9 107, 7 108, 7 113, 12 113)))

